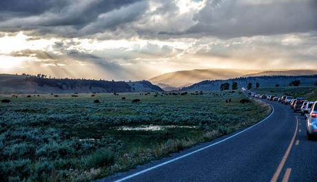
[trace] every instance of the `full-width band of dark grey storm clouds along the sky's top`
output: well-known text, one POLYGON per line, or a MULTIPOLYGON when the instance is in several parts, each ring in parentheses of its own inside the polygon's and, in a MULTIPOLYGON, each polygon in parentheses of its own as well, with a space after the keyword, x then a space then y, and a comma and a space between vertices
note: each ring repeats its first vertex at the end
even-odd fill
POLYGON ((2 0, 0 31, 95 39, 232 38, 317 31, 316 0, 210 0, 185 19, 177 1, 152 2, 161 6, 150 10, 150 1, 145 0, 2 0), (155 17, 164 20, 156 22, 155 17))

